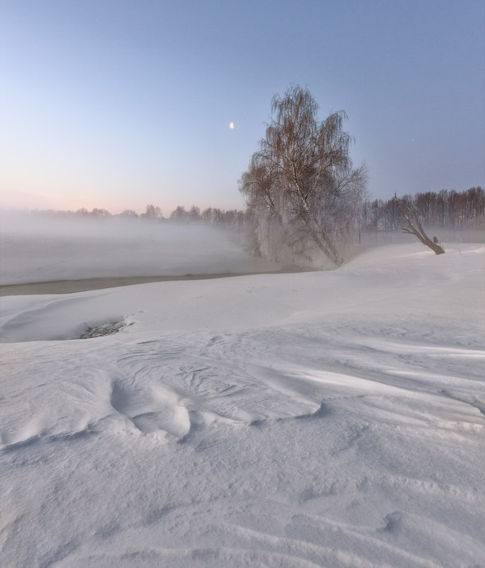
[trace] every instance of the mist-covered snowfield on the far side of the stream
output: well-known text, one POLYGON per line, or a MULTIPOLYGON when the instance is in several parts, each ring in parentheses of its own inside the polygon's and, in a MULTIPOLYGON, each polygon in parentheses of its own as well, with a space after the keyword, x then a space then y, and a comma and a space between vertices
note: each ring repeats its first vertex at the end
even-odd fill
POLYGON ((245 253, 242 237, 208 224, 23 212, 1 212, 0 220, 0 285, 279 268, 245 253))

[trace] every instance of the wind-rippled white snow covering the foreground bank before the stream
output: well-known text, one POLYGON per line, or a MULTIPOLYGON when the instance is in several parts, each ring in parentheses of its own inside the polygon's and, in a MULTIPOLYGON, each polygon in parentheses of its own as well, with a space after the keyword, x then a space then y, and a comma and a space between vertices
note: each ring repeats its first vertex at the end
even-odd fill
POLYGON ((1 564, 479 566, 475 251, 3 298, 1 564))

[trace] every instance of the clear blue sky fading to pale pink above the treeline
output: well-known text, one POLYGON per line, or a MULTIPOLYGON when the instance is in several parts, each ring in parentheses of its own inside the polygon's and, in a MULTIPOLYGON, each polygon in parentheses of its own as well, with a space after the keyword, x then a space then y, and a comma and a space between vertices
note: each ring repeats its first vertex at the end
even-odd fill
POLYGON ((483 0, 0 0, 0 81, 4 208, 244 209, 291 84, 372 199, 485 185, 483 0))

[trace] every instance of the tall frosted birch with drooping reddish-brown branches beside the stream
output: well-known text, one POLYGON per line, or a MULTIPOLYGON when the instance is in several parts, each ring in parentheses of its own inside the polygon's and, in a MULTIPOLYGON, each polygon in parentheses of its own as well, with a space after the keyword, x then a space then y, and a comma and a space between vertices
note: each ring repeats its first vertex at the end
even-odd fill
POLYGON ((257 247, 278 259, 285 247, 298 253, 317 247, 340 266, 364 195, 364 168, 352 168, 352 138, 344 111, 317 119, 308 89, 290 87, 272 99, 273 117, 240 180, 247 196, 257 247), (311 246, 308 247, 308 244, 311 246))

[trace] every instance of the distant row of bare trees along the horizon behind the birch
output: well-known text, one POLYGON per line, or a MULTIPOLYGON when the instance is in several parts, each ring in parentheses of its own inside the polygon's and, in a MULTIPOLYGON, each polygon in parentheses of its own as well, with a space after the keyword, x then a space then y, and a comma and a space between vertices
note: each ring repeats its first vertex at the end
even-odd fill
MULTIPOLYGON (((465 227, 485 228, 485 191, 481 187, 456 192, 441 190, 440 192, 416 193, 416 195, 398 196, 401 200, 413 205, 426 226, 447 229, 465 227)), ((112 215, 106 209, 78 209, 72 211, 40 211, 39 214, 50 214, 55 217, 129 217, 131 219, 159 219, 164 222, 204 222, 225 228, 243 229, 247 222, 247 212, 237 209, 218 209, 208 207, 201 211, 193 205, 185 209, 179 205, 168 218, 163 217, 160 207, 147 205, 145 212, 138 214, 133 209, 126 209, 121 214, 112 215)), ((404 224, 403 213, 396 200, 366 200, 360 212, 360 230, 377 233, 380 231, 399 231, 404 224)))

